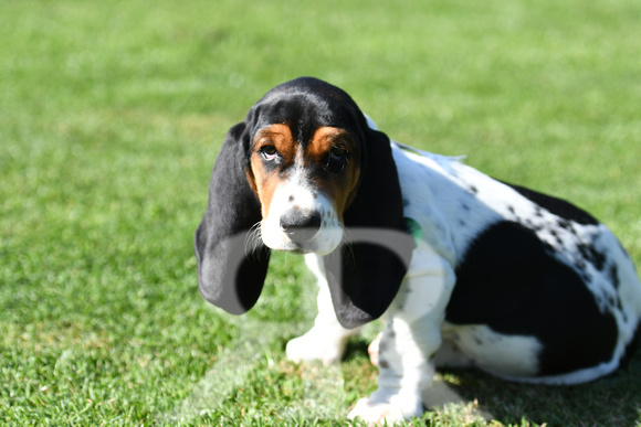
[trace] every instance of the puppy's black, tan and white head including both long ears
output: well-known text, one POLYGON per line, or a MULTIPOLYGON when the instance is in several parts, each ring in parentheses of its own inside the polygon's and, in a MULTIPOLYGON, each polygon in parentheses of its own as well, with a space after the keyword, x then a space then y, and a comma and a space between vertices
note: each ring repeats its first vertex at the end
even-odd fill
POLYGON ((412 249, 403 229, 387 136, 345 92, 297 78, 270 90, 224 139, 195 237, 199 288, 242 313, 260 296, 270 249, 316 253, 339 321, 357 327, 398 291, 412 249), (367 231, 396 232, 395 243, 367 231))

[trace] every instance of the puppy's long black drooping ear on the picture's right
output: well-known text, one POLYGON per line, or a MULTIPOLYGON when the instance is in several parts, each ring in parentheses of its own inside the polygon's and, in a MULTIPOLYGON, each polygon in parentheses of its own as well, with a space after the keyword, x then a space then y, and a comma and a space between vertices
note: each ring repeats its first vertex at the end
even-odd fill
POLYGON ((325 257, 334 309, 346 328, 367 323, 387 310, 416 247, 404 226, 390 141, 370 128, 364 134, 361 181, 344 213, 348 241, 325 257))

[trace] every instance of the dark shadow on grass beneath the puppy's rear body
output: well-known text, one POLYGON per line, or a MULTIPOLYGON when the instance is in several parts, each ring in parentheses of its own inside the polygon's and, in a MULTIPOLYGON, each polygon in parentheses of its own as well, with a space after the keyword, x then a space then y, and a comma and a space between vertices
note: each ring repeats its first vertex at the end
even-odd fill
POLYGON ((640 352, 614 375, 577 386, 517 384, 473 370, 441 375, 453 401, 459 399, 453 403, 476 402, 483 417, 503 424, 634 426, 640 420, 640 352))

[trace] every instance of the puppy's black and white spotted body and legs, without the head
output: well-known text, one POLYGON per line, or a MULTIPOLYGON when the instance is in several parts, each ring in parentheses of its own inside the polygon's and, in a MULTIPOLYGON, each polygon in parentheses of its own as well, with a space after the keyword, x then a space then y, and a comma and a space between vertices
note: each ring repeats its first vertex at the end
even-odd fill
MULTIPOLYGON (((420 415, 434 366, 544 384, 589 382, 621 366, 638 331, 641 285, 603 224, 458 159, 397 142, 392 152, 404 215, 422 239, 386 312, 378 389, 351 417, 420 415)), ((337 322, 318 257, 307 264, 319 279, 319 313, 287 355, 334 362, 357 331, 337 322)))

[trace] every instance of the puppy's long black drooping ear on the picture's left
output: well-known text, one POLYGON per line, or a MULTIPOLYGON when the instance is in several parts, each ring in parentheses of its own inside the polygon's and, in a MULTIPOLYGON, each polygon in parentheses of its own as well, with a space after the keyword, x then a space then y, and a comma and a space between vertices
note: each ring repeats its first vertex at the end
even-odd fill
POLYGON ((250 310, 263 289, 270 249, 250 229, 261 221, 260 202, 244 172, 245 124, 232 127, 213 164, 209 202, 196 231, 198 288, 225 311, 250 310))

